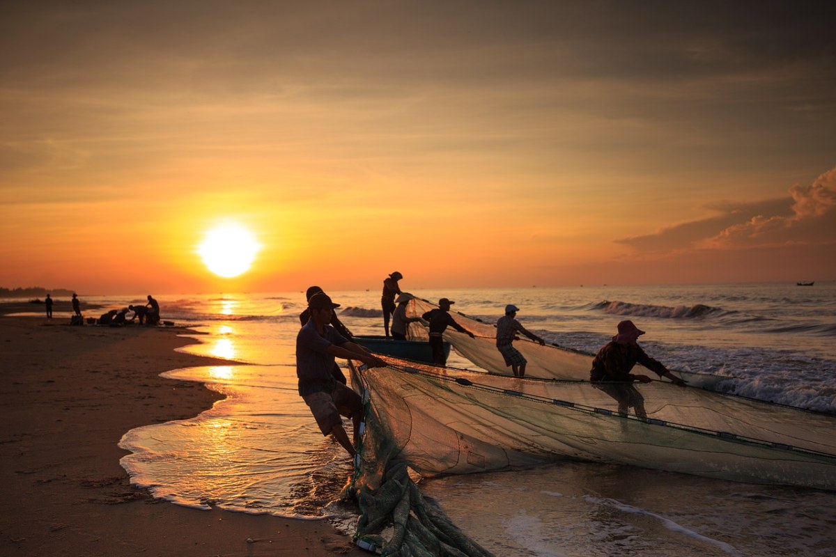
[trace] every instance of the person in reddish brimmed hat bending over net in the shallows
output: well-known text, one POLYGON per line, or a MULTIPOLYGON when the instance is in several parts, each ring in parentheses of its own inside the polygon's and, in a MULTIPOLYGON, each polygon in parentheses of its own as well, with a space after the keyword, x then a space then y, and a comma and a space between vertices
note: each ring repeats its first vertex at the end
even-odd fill
POLYGON ((686 381, 676 377, 667 367, 645 354, 637 342, 645 332, 633 322, 620 322, 618 331, 619 334, 605 344, 592 360, 589 381, 619 403, 619 414, 626 416, 628 410, 634 408, 636 416, 646 418, 645 398, 633 382, 649 383, 652 379, 646 375, 630 373, 636 363, 647 367, 659 377, 668 377, 680 387, 685 387, 686 381))

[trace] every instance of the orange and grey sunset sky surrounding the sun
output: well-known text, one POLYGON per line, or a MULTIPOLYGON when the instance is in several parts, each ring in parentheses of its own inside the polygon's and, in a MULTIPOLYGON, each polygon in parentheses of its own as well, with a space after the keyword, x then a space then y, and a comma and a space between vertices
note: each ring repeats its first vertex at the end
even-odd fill
POLYGON ((836 8, 0 3, 0 286, 836 279, 836 8), (250 230, 250 271, 198 255, 250 230))

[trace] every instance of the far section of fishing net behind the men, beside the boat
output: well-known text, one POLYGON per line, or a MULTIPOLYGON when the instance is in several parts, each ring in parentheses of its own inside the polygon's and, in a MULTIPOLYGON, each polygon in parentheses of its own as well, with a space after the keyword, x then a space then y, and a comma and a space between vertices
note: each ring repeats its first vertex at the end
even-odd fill
MULTIPOLYGON (((407 306, 407 316, 422 316, 426 311, 437 306, 430 301, 413 298, 407 306)), ((452 327, 447 327, 444 332, 444 339, 456 348, 456 352, 475 363, 483 370, 498 375, 512 376, 511 368, 505 365, 502 354, 496 346, 497 327, 492 323, 482 322, 463 313, 451 311, 456 322, 467 331, 474 334, 471 338, 464 333, 457 332, 452 327)), ((410 338, 427 338, 426 328, 420 323, 410 323, 410 338)), ((526 377, 539 377, 542 379, 570 379, 575 381, 589 380, 589 369, 592 367, 594 354, 580 352, 571 348, 559 347, 556 344, 541 346, 538 342, 532 342, 522 337, 514 342, 514 347, 528 360, 526 366, 526 377)), ((656 374, 636 365, 636 373, 656 374)), ((703 373, 679 372, 691 387, 701 387, 711 390, 719 390, 721 382, 726 382, 728 377, 719 377, 703 373)), ((669 381, 663 379, 663 381, 669 381)))

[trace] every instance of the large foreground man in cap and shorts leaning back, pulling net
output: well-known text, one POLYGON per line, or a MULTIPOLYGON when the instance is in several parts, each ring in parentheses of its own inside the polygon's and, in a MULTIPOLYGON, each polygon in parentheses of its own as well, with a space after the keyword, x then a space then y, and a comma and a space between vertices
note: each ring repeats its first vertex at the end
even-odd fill
POLYGON ((335 357, 359 360, 369 367, 385 367, 386 362, 362 350, 329 325, 334 308, 339 307, 324 292, 308 300, 310 319, 296 337, 296 377, 303 397, 323 435, 333 435, 351 456, 357 453, 363 399, 351 388, 334 379, 335 357), (353 442, 343 428, 340 416, 354 424, 353 442))

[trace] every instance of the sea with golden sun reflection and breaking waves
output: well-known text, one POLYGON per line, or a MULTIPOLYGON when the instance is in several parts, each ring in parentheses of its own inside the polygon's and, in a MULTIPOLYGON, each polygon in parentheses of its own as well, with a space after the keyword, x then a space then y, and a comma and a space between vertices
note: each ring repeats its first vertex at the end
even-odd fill
MULTIPOLYGON (((836 414, 836 281, 401 288, 450 298, 454 311, 485 322, 515 304, 530 331, 585 352, 631 319, 646 332, 645 352, 670 369, 730 377, 742 396, 836 414)), ((378 288, 328 292, 354 334, 383 334, 378 288)), ((82 297, 102 312, 145 301, 82 297)), ((352 463, 319 433, 296 390, 303 292, 155 297, 162 318, 199 341, 184 352, 231 362, 166 372, 225 398, 194 418, 125 432, 132 481, 172 504, 328 519, 353 534, 357 509, 339 502, 352 463)), ((475 368, 455 352, 448 364, 475 368)), ((815 489, 569 460, 419 486, 497 556, 836 554, 836 493, 815 489)))

